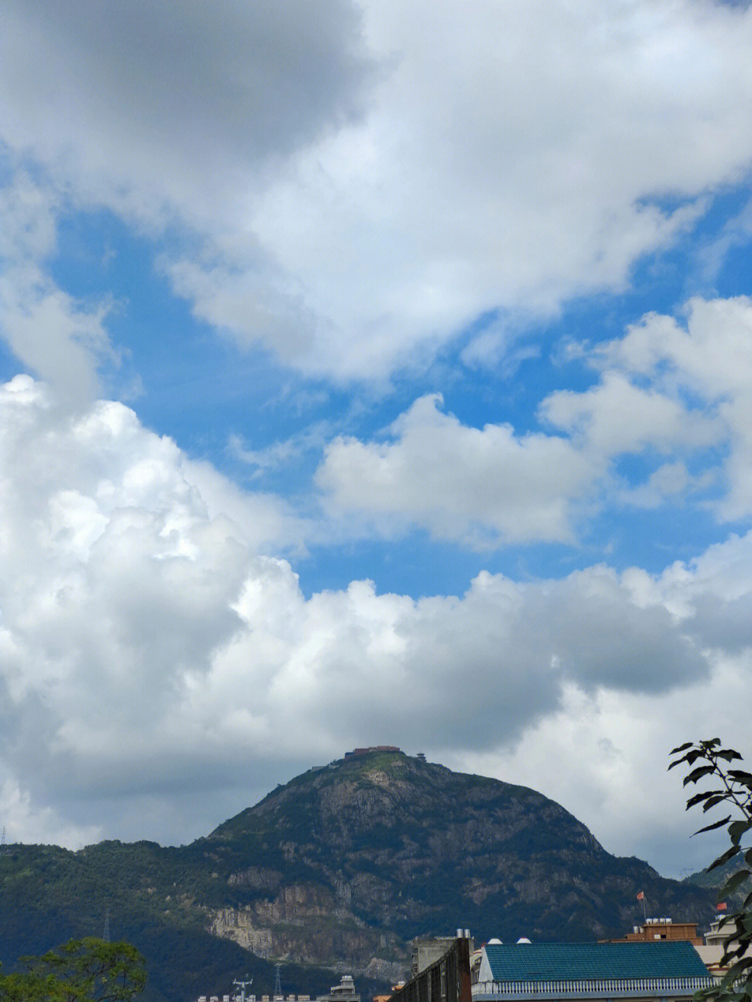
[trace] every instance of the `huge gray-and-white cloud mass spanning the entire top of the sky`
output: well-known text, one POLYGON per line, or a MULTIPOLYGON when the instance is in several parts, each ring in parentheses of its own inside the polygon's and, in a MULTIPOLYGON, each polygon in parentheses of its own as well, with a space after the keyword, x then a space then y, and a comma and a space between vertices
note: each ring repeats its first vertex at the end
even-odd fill
MULTIPOLYGON (((484 313, 622 288, 752 161, 740 7, 34 0, 3 17, 9 148, 76 205, 169 224, 160 268, 196 316, 305 374, 386 380, 484 313)), ((493 364, 497 342, 467 357, 493 364)))

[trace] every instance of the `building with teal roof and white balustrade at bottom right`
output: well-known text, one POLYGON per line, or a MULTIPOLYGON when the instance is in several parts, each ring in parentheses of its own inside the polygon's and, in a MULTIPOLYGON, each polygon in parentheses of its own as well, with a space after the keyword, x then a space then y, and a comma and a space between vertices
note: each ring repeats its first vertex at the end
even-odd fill
POLYGON ((682 940, 489 943, 473 1002, 689 1002, 715 983, 692 944, 682 940))

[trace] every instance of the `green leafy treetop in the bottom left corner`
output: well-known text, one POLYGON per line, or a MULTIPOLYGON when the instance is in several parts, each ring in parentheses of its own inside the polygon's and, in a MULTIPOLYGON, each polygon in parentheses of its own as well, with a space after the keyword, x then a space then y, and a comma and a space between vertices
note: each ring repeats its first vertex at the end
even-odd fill
POLYGON ((0 974, 2 1002, 130 1002, 146 984, 143 957, 128 943, 71 940, 22 963, 22 974, 0 974))

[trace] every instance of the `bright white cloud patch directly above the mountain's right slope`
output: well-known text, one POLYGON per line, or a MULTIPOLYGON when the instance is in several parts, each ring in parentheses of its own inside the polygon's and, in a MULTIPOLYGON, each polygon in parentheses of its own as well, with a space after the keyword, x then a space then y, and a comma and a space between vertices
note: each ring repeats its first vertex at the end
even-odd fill
POLYGON ((588 694, 568 683, 559 708, 518 743, 445 752, 441 761, 532 786, 567 807, 609 852, 638 856, 681 879, 708 866, 726 845, 724 833, 691 838, 699 822, 685 812, 681 777, 667 774, 668 753, 719 734, 746 757, 750 669, 747 649, 715 659, 708 676, 667 694, 588 694))

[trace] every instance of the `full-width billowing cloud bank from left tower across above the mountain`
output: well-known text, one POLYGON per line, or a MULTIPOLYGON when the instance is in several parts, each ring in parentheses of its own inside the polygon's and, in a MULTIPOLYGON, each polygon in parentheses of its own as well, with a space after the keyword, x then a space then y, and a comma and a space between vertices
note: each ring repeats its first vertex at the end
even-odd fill
POLYGON ((29 377, 0 392, 11 834, 183 841, 355 743, 498 772, 531 730, 571 721, 577 699, 605 700, 628 728, 635 706, 668 693, 685 712, 682 693, 719 666, 748 675, 752 537, 657 577, 483 572, 462 596, 353 581, 306 598, 290 564, 265 555, 284 514, 265 521, 269 498, 224 491, 120 404, 63 423, 52 404, 29 377))

